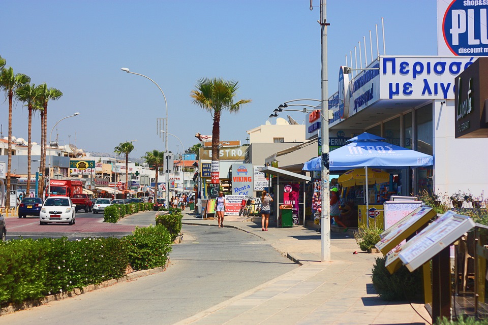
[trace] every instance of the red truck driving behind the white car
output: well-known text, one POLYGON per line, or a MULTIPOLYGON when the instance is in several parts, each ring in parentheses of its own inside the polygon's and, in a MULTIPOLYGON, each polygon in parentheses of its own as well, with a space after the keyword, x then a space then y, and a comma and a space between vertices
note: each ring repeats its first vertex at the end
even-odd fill
POLYGON ((82 181, 51 179, 50 184, 51 192, 48 196, 69 197, 76 204, 76 211, 83 209, 85 212, 92 212, 93 203, 88 194, 83 193, 82 181))

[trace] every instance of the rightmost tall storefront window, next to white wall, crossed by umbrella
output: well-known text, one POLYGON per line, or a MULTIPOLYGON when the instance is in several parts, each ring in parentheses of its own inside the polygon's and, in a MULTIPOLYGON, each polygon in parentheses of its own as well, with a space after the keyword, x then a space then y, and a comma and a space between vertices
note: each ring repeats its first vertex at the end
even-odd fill
MULTIPOLYGON (((415 111, 415 131, 417 138, 417 151, 432 155, 434 144, 432 130, 432 105, 426 105, 415 111)), ((430 167, 417 168, 417 192, 425 189, 433 191, 433 172, 430 167)))

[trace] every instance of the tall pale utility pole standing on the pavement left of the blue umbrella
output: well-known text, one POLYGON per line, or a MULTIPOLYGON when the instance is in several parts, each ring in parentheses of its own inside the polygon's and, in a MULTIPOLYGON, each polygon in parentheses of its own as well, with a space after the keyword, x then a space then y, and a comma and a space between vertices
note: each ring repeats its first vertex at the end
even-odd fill
MULTIPOLYGON (((320 26, 322 29, 322 212, 321 224, 321 261, 330 261, 330 193, 329 193, 329 100, 327 80, 327 4, 322 0, 320 6, 320 26)), ((359 47, 360 49, 360 47, 359 47)))

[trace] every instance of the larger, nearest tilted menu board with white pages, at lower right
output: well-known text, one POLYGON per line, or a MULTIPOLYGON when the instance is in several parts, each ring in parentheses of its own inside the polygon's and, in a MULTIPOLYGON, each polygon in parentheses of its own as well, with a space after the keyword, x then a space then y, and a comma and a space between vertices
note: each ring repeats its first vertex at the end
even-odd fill
POLYGON ((417 236, 389 254, 385 266, 393 273, 403 263, 413 272, 474 226, 475 223, 470 217, 447 211, 417 236))

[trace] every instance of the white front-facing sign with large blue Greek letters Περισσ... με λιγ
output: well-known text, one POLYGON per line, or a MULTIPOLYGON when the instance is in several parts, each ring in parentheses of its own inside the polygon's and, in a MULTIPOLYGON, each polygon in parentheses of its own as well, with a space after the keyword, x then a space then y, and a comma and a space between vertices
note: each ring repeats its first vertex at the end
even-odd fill
POLYGON ((454 78, 475 57, 380 57, 381 99, 454 99, 454 78))

